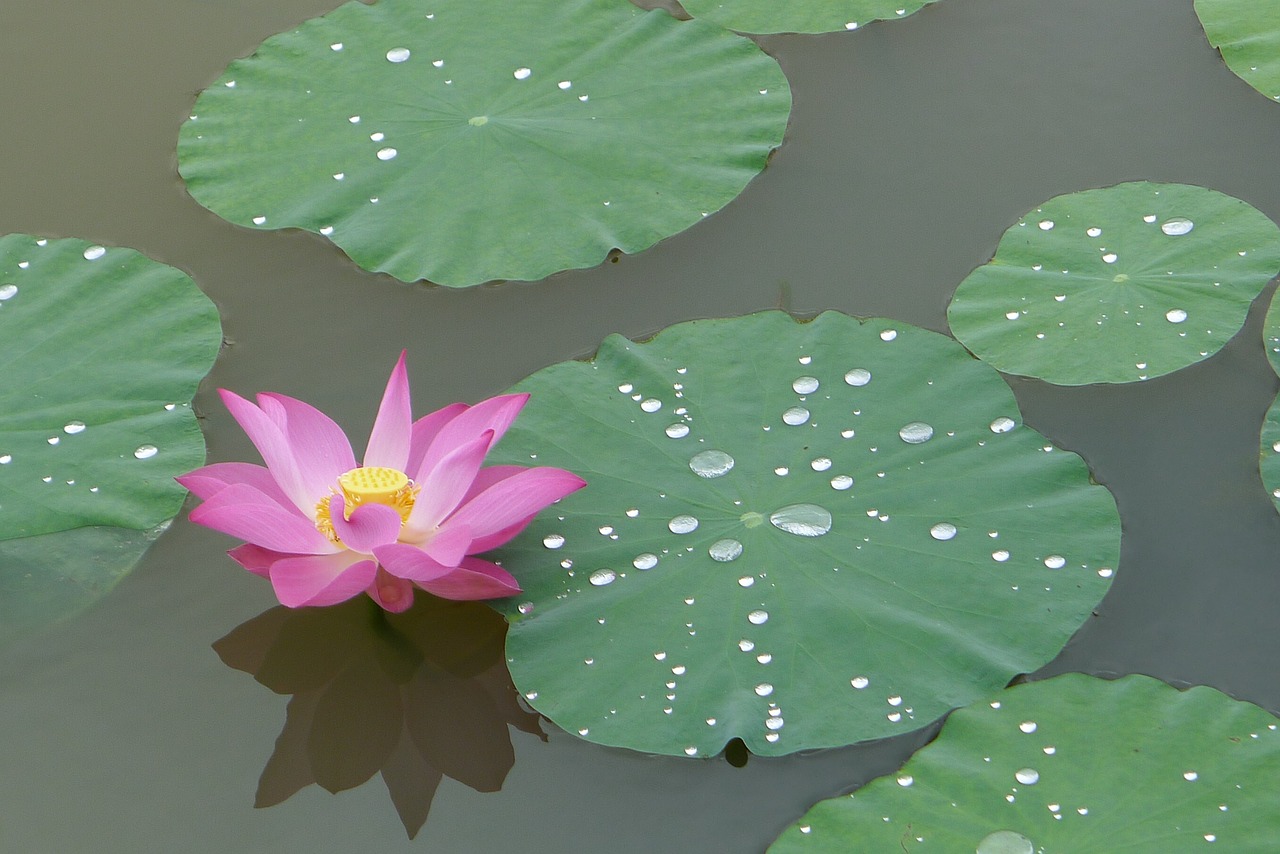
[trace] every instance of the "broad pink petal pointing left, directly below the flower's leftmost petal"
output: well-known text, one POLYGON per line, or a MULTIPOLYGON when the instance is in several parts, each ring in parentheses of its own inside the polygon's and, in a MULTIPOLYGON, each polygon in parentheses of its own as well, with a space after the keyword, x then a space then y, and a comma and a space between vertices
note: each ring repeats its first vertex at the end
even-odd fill
POLYGON ((246 484, 219 490, 191 511, 191 521, 253 545, 291 554, 329 554, 338 547, 292 507, 246 484))

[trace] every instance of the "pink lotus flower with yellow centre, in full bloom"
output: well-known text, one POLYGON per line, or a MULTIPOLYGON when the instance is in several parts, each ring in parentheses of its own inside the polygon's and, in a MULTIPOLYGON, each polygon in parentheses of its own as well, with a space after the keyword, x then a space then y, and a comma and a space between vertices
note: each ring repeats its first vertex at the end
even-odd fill
POLYGON ((398 612, 412 604, 413 585, 445 599, 518 593, 506 570, 474 554, 586 485, 562 469, 481 469, 527 394, 453 403, 412 421, 404 353, 362 465, 342 429, 302 401, 259 394, 255 406, 219 394, 266 467, 219 462, 178 478, 204 501, 191 521, 247 540, 228 554, 270 579, 291 608, 365 592, 398 612))

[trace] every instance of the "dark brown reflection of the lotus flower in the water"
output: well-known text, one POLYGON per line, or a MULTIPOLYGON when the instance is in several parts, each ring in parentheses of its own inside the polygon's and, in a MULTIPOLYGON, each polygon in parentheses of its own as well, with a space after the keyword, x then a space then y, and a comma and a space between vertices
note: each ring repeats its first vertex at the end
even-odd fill
POLYGON ((412 839, 442 777, 502 787, 515 762, 508 726, 545 740, 503 665, 506 621, 472 602, 419 599, 403 613, 364 599, 271 608, 214 644, 228 667, 292 694, 256 807, 381 772, 412 839))

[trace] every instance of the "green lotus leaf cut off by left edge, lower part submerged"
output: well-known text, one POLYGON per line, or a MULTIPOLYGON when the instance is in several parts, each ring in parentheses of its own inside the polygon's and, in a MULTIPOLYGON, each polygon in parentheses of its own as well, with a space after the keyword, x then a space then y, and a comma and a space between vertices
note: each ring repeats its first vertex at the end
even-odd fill
POLYGON ((133 250, 0 237, 0 640, 108 592, 173 519, 221 343, 189 277, 133 250))

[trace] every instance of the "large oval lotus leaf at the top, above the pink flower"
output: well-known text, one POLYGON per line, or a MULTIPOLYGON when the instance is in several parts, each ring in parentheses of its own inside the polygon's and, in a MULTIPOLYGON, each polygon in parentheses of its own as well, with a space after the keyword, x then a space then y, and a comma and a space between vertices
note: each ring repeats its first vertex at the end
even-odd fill
POLYGON ((347 3, 201 93, 178 160, 241 225, 406 282, 540 279, 728 204, 791 93, 753 42, 617 0, 347 3))

